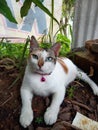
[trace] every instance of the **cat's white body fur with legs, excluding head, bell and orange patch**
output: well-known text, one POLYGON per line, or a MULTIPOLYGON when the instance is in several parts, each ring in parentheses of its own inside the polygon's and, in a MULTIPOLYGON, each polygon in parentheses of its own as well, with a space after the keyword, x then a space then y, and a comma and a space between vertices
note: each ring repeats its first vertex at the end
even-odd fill
MULTIPOLYGON (((29 65, 26 67, 22 87, 21 87, 21 98, 22 98, 22 110, 20 115, 20 123, 26 128, 31 124, 33 120, 32 98, 33 95, 48 96, 53 94, 52 103, 47 108, 44 120, 47 125, 51 125, 56 122, 60 105, 64 99, 66 87, 76 77, 89 83, 93 89, 94 94, 98 95, 97 85, 70 61, 65 58, 64 62, 68 68, 68 73, 65 73, 61 64, 57 61, 53 72, 50 75, 45 75, 45 82, 41 82, 41 75, 35 74, 31 71, 29 65)), ((43 67, 44 68, 44 67, 43 67)))

